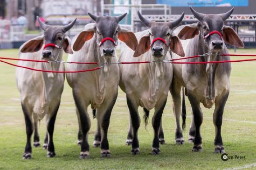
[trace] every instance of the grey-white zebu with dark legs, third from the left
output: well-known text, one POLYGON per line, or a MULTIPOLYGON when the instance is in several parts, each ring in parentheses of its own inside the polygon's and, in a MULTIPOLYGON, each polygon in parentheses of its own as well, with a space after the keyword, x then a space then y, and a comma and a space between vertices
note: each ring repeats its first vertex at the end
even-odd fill
POLYGON ((145 19, 139 12, 138 17, 149 29, 135 33, 139 39, 138 46, 133 52, 127 46, 121 48, 119 62, 155 61, 149 64, 120 65, 120 88, 126 93, 127 105, 130 111, 130 127, 127 144, 131 143, 131 154, 139 154, 138 128, 140 118, 138 106, 145 112, 144 121, 147 124, 149 111, 155 109, 152 126, 154 137, 152 154, 160 154, 159 125, 166 105, 169 87, 173 78, 173 67, 163 60, 171 59, 168 50, 184 56, 180 39, 173 34, 173 27, 178 26, 184 13, 171 22, 154 22, 145 19))

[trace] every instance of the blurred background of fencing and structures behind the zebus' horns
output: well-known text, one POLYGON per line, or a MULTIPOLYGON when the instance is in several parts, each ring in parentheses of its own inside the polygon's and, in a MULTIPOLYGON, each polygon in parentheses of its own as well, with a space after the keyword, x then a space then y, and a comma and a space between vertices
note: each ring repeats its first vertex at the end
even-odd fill
POLYGON ((139 21, 137 11, 150 20, 162 22, 174 20, 185 11, 182 24, 189 24, 197 21, 189 7, 214 14, 235 7, 226 25, 235 29, 247 48, 256 47, 256 0, 0 0, 0 49, 19 48, 41 34, 37 15, 43 22, 56 26, 77 18, 68 33, 72 38, 93 22, 88 12, 112 16, 127 13, 120 24, 138 32, 146 28, 139 21))

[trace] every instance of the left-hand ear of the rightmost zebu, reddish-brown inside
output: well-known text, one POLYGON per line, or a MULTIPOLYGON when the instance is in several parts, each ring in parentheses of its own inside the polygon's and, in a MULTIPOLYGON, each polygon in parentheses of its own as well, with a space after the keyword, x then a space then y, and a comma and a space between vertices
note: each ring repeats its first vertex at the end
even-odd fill
POLYGON ((185 25, 178 34, 178 37, 182 40, 193 39, 197 34, 199 34, 198 23, 185 25))

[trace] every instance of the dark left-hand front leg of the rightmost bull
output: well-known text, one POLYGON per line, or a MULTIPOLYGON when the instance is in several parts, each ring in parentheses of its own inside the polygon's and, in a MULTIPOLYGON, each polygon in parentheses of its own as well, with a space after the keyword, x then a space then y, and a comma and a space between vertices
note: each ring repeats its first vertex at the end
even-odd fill
POLYGON ((201 111, 200 102, 197 101, 194 95, 191 93, 188 93, 188 99, 193 110, 194 125, 195 125, 194 147, 192 151, 201 151, 203 148, 202 148, 202 138, 200 133, 200 127, 203 122, 203 114, 201 111))

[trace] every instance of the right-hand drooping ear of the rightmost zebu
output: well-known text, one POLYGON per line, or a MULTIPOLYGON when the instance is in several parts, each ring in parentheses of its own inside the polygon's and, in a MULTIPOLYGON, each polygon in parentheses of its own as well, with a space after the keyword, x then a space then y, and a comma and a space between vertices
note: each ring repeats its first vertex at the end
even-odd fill
POLYGON ((232 46, 236 46, 238 48, 244 47, 242 40, 238 37, 237 33, 235 33, 235 30, 229 26, 224 26, 223 28, 223 39, 225 43, 232 46))

